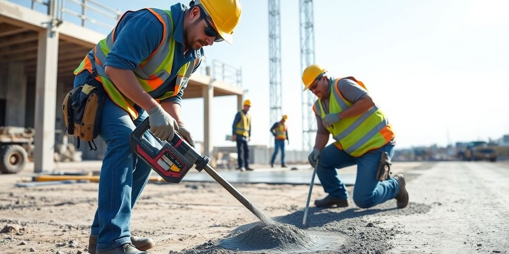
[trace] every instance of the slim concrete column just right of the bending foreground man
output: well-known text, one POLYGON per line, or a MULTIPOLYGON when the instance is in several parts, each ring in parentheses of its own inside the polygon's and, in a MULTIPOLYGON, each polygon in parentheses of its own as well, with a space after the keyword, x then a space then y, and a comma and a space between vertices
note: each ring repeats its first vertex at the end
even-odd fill
POLYGON ((203 111, 204 111, 204 135, 203 135, 203 152, 209 158, 212 158, 212 124, 211 124, 211 116, 212 116, 212 98, 214 98, 214 85, 212 85, 212 81, 209 82, 209 85, 204 86, 202 88, 202 97, 203 97, 203 111))

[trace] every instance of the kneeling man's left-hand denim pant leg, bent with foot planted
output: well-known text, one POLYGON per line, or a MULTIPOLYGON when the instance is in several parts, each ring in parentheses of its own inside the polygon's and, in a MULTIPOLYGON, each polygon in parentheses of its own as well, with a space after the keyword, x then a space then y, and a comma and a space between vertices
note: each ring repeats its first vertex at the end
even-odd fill
POLYGON ((334 144, 320 151, 317 175, 323 190, 331 196, 348 199, 346 186, 337 174, 336 168, 341 169, 352 165, 355 165, 354 157, 338 149, 334 144))

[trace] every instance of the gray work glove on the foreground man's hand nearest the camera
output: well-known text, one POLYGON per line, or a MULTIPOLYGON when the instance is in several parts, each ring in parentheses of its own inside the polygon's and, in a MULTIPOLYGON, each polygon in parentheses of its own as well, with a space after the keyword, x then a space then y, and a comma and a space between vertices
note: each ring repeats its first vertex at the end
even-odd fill
POLYGON ((177 121, 164 111, 161 105, 152 107, 147 113, 149 113, 150 132, 160 140, 171 141, 175 131, 179 130, 177 121))

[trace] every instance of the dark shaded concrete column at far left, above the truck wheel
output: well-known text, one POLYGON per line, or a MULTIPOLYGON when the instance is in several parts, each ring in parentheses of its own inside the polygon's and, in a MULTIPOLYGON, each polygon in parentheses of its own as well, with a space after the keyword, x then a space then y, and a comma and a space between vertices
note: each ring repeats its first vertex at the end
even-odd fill
POLYGON ((6 126, 25 127, 26 74, 23 62, 9 62, 7 73, 6 126))

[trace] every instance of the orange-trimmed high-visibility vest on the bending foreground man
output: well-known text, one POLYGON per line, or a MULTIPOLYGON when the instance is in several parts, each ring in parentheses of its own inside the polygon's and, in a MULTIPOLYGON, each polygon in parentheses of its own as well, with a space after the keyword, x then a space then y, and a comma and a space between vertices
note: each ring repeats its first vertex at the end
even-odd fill
MULTIPOLYGON (((163 25, 163 36, 159 43, 159 46, 154 52, 145 60, 143 60, 136 69, 134 74, 142 85, 143 89, 147 92, 155 91, 159 88, 167 79, 175 78, 171 76, 172 67, 174 65, 174 53, 175 53, 175 40, 173 39, 174 23, 172 12, 168 10, 159 10, 146 8, 154 14, 157 19, 163 25), (168 33, 171 31, 171 33, 168 33)), ((126 14, 129 12, 126 12, 126 14)), ((126 15, 124 14, 124 16, 126 15)), ((124 18, 122 16, 122 18, 124 18)), ((122 20, 122 18, 120 20, 122 20)), ((119 22, 120 22, 119 20, 119 22)), ((118 24, 117 24, 118 26, 118 24)), ((88 70, 90 73, 95 70, 97 72, 96 80, 101 82, 108 93, 112 101, 115 102, 119 107, 123 108, 127 113, 130 114, 132 119, 138 118, 138 113, 134 109, 134 103, 125 97, 113 84, 111 79, 106 75, 104 71, 104 63, 106 62, 106 56, 108 55, 111 47, 115 42, 115 29, 103 40, 101 40, 93 49, 93 54, 89 53, 79 67, 74 70, 74 75, 77 75, 83 70, 88 70), (92 57, 93 55, 93 57, 92 57)), ((133 39, 135 40, 135 39, 133 39)), ((193 61, 185 62, 180 67, 176 80, 175 89, 173 91, 166 91, 162 96, 154 98, 157 102, 166 99, 168 97, 176 96, 181 87, 187 82, 195 66, 200 62, 200 58, 196 58, 193 61)), ((179 63, 176 63, 179 64, 179 63)))

